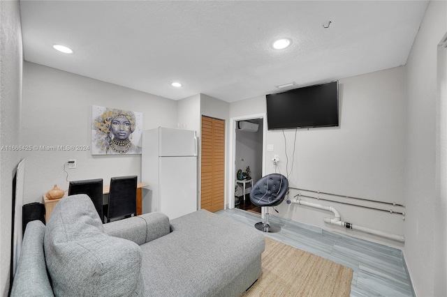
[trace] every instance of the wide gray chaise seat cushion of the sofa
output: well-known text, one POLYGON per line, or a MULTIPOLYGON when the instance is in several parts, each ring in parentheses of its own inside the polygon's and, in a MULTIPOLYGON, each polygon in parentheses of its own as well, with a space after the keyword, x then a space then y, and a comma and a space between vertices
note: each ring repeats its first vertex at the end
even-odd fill
POLYGON ((141 245, 146 296, 240 296, 261 274, 256 228, 203 209, 170 223, 170 234, 141 245))

